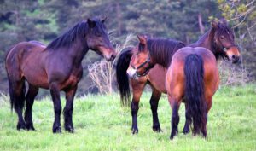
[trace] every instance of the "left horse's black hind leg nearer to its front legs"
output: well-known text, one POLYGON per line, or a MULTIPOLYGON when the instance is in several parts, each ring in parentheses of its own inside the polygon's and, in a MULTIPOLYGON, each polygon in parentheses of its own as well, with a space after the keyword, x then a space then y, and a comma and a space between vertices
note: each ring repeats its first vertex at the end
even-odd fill
POLYGON ((26 110, 25 110, 25 121, 26 121, 26 130, 35 131, 32 122, 32 106, 34 103, 35 97, 38 95, 38 87, 29 84, 29 88, 26 94, 26 110))

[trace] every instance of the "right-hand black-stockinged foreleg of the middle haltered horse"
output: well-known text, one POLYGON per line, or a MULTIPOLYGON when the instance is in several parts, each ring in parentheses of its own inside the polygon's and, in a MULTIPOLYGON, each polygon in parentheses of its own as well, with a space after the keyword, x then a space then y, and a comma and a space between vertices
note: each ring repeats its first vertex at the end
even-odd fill
POLYGON ((155 90, 153 88, 152 96, 150 98, 150 106, 151 106, 151 111, 153 115, 153 131, 155 132, 160 132, 160 123, 158 119, 158 113, 157 113, 157 108, 158 108, 158 102, 161 97, 161 92, 158 90, 155 90))

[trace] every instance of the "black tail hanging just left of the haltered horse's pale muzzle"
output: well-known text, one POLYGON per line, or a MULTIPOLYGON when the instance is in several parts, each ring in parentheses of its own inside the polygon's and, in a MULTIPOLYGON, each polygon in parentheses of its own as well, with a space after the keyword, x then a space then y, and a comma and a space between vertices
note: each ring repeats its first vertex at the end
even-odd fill
POLYGON ((130 104, 131 93, 129 86, 129 77, 126 70, 129 67, 132 56, 132 48, 127 48, 119 55, 119 60, 116 65, 116 79, 118 83, 118 89, 121 96, 121 102, 123 105, 128 106, 130 104))

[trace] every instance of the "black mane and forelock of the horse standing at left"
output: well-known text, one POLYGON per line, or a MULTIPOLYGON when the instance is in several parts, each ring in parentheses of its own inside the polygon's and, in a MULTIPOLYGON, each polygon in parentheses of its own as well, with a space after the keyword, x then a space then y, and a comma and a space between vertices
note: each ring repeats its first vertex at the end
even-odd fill
MULTIPOLYGON (((95 35, 101 35, 104 32, 104 26, 102 22, 96 18, 93 19, 96 26, 91 28, 91 31, 95 35)), ((86 33, 89 31, 89 26, 87 21, 81 21, 77 23, 73 28, 64 32, 61 36, 55 38, 51 43, 48 44, 46 49, 59 49, 61 47, 70 47, 77 39, 83 39, 86 33)), ((85 41, 85 39, 84 39, 85 41)))

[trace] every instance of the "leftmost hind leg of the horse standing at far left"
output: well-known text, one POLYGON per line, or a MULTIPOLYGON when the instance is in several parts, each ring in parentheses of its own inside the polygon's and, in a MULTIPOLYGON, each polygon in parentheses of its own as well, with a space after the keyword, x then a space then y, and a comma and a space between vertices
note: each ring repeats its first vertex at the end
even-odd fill
POLYGON ((25 102, 26 86, 25 80, 11 81, 9 79, 9 95, 11 107, 15 108, 15 113, 18 115, 17 130, 25 130, 26 124, 22 116, 24 102, 25 102))

